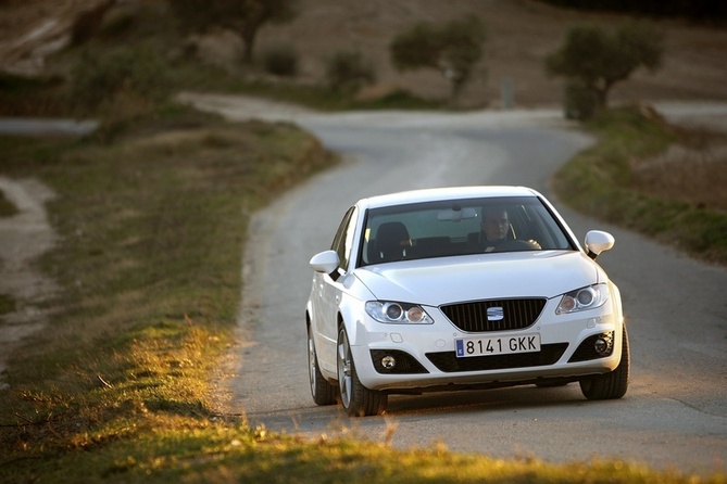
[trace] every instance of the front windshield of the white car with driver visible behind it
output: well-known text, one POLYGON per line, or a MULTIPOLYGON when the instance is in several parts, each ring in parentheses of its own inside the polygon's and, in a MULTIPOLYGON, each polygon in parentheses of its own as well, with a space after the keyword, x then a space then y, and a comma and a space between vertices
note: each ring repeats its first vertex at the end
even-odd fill
POLYGON ((574 250, 535 196, 449 200, 372 208, 360 266, 489 252, 574 250))

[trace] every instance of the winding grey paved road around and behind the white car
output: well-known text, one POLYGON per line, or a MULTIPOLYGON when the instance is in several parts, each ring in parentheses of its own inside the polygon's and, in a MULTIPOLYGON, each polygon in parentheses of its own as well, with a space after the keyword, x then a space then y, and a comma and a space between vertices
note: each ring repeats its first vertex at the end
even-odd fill
POLYGON ((691 260, 556 202, 582 237, 616 237, 599 260, 619 285, 632 345, 621 400, 587 402, 577 384, 390 397, 384 417, 349 419, 316 407, 308 387, 304 303, 310 256, 327 249, 344 209, 369 194, 435 186, 514 183, 550 193, 553 170, 590 140, 557 112, 504 114, 275 112, 250 101, 197 99, 231 117, 283 116, 347 161, 258 214, 245 262, 243 347, 225 382, 229 408, 253 425, 316 436, 353 433, 397 447, 450 449, 553 462, 593 456, 684 471, 725 469, 727 270, 691 260))

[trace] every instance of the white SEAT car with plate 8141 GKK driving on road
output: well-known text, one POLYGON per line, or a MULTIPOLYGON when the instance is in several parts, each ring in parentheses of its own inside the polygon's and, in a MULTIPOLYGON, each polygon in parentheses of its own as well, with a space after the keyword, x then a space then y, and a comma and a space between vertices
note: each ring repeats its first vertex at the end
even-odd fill
POLYGON ((579 382, 621 398, 629 348, 621 294, 555 208, 522 187, 360 200, 311 259, 305 308, 313 400, 350 416, 390 394, 579 382))

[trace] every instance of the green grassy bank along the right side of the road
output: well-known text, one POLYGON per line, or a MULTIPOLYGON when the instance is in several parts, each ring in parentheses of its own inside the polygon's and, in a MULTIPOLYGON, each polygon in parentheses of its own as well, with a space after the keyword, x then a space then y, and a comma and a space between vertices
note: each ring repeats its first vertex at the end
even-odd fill
MULTIPOLYGON (((670 166, 659 162, 660 153, 681 135, 649 110, 616 110, 589 124, 589 129, 599 142, 571 160, 554 178, 562 200, 705 262, 727 264, 727 211, 701 202, 724 201, 724 186, 715 181, 724 176, 714 169, 718 162, 705 164, 698 177, 693 162, 677 157, 681 163, 673 167, 677 174, 673 175, 670 166), (649 171, 651 177, 644 175, 649 171), (669 189, 669 183, 677 188, 669 189), (660 190, 665 195, 657 194, 660 190), (686 201, 687 196, 694 200, 686 201)), ((686 137, 686 142, 694 145, 701 137, 686 137)))

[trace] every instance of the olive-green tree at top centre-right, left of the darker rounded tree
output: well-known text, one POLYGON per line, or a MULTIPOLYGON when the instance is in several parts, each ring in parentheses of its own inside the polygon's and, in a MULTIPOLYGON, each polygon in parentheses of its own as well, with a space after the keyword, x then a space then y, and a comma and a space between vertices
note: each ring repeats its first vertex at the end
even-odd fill
POLYGON ((455 101, 469 81, 482 56, 485 26, 474 15, 443 25, 415 24, 389 44, 393 65, 399 71, 434 68, 450 82, 450 99, 455 101))

